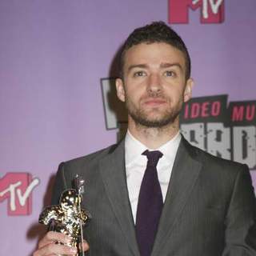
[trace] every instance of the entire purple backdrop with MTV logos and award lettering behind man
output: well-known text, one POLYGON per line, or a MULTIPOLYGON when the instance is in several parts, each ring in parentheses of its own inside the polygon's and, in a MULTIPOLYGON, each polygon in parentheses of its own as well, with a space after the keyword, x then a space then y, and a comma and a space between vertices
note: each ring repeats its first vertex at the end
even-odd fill
POLYGON ((1 255, 33 253, 60 162, 122 136, 118 50, 153 21, 177 30, 192 58, 194 97, 182 133, 210 154, 246 163, 256 188, 255 10, 254 0, 2 0, 1 255))

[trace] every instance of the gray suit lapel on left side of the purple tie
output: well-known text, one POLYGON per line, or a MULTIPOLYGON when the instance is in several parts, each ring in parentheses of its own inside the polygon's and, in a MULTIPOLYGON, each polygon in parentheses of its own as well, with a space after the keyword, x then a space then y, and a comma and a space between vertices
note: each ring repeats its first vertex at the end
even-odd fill
POLYGON ((126 185, 124 140, 117 148, 99 162, 106 194, 130 249, 139 256, 134 221, 126 185))

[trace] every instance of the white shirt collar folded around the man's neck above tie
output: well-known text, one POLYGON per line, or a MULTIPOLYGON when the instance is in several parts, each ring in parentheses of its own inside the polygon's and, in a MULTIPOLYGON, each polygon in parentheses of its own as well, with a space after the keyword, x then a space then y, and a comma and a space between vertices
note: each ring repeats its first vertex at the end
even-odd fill
MULTIPOLYGON (((166 142, 158 149, 162 152, 163 158, 166 158, 168 162, 174 162, 174 158, 176 156, 179 142, 181 141, 181 134, 178 133, 174 136, 174 138, 170 139, 170 141, 166 142)), ((136 158, 142 155, 142 152, 148 149, 142 142, 139 142, 137 138, 134 138, 130 131, 127 130, 126 140, 125 140, 125 152, 126 152, 126 165, 129 165, 131 162, 134 162, 136 158)))

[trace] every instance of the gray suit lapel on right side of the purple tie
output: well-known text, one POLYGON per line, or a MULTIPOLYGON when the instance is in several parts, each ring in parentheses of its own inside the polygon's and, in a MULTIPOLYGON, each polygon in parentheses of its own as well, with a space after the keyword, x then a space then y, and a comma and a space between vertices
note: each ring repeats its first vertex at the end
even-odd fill
POLYGON ((170 241, 167 238, 171 235, 172 227, 181 214, 200 173, 202 164, 191 157, 189 147, 188 142, 182 138, 174 161, 152 256, 160 255, 159 251, 162 250, 164 243, 170 241))

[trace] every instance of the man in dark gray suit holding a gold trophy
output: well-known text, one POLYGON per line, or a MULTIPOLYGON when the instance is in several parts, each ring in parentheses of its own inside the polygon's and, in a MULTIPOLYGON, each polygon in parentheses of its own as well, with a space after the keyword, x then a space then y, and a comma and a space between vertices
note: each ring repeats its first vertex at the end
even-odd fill
MULTIPOLYGON (((59 166, 53 203, 86 180, 92 219, 84 250, 104 256, 256 255, 256 202, 247 166, 215 158, 179 133, 191 98, 190 56, 163 22, 138 28, 121 57, 118 98, 128 132, 118 145, 59 166), (90 250, 88 250, 90 246, 90 250)), ((63 234, 48 232, 34 256, 74 254, 63 234)))

